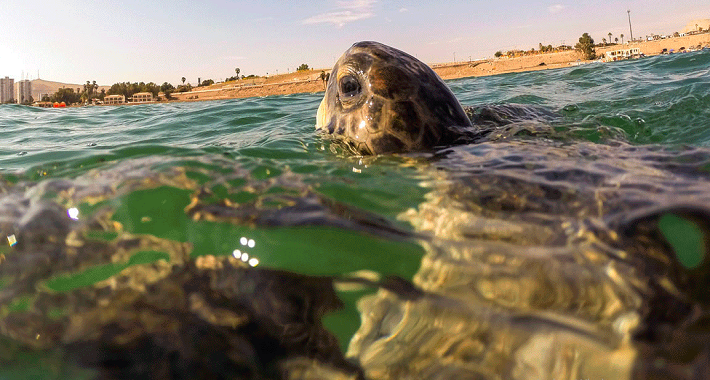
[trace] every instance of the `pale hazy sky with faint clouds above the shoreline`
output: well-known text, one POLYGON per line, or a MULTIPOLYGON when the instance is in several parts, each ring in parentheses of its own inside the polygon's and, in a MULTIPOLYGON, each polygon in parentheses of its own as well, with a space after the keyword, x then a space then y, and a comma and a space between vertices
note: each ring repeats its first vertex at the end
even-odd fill
POLYGON ((432 64, 681 31, 707 0, 0 0, 0 77, 100 85, 330 68, 379 41, 432 64), (23 76, 24 75, 24 76, 23 76))

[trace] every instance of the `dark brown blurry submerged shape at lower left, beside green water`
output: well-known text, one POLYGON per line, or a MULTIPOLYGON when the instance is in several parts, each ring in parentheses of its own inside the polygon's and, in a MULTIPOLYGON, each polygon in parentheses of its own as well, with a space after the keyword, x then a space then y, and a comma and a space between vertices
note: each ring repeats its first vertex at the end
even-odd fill
POLYGON ((193 258, 189 243, 124 232, 111 208, 77 218, 47 199, 101 203, 147 186, 187 201, 194 184, 150 160, 23 186, 0 178, 0 236, 12 241, 0 247, 0 368, 25 371, 31 352, 59 378, 357 377, 321 324, 342 306, 331 278, 193 258))

